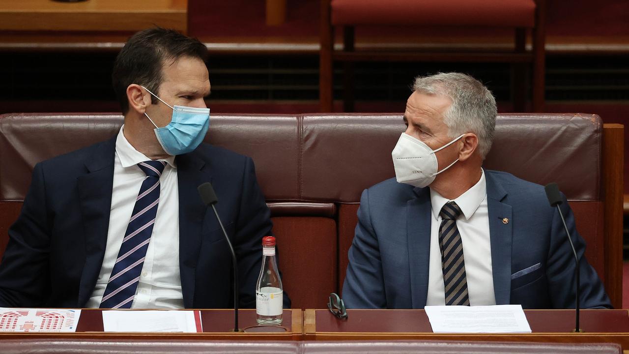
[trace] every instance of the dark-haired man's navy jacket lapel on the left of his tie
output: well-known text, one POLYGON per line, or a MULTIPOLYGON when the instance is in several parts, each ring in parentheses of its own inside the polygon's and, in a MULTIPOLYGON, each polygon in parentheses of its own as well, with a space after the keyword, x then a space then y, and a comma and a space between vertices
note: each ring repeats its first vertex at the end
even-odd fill
POLYGON ((115 149, 116 137, 96 147, 94 154, 85 162, 87 173, 77 178, 86 254, 78 307, 84 307, 87 303, 103 265, 111 211, 115 149))

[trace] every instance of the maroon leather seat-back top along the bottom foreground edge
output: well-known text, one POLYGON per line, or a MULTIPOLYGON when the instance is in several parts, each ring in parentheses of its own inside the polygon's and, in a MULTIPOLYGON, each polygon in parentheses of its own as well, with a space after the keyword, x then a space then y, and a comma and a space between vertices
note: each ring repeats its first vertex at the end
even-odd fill
POLYGON ((32 339, 0 341, 4 354, 411 354, 411 353, 511 353, 511 354, 620 354, 615 343, 490 343, 479 341, 209 341, 209 340, 106 340, 32 339))

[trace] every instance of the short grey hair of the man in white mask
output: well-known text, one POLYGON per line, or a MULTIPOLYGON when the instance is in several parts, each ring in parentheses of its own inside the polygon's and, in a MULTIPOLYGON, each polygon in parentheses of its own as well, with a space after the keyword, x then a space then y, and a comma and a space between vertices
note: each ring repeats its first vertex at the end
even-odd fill
POLYGON ((454 139, 461 134, 478 137, 478 152, 484 160, 494 140, 496 128, 496 99, 480 81, 459 72, 440 72, 415 78, 413 89, 425 94, 444 95, 452 105, 443 114, 448 135, 454 139))

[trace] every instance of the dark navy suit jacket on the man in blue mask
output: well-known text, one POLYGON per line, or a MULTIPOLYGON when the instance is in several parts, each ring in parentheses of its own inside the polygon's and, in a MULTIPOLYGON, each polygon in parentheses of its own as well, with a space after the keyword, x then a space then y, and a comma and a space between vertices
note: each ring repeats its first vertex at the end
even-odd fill
MULTIPOLYGON (((114 137, 36 164, 0 264, 0 306, 84 307, 103 263, 115 144, 114 137)), ((233 307, 228 246, 197 191, 197 186, 210 181, 238 257, 240 306, 255 307, 262 237, 270 234, 272 224, 252 159, 201 144, 175 161, 184 305, 233 307)), ((284 305, 290 306, 287 297, 284 305)))

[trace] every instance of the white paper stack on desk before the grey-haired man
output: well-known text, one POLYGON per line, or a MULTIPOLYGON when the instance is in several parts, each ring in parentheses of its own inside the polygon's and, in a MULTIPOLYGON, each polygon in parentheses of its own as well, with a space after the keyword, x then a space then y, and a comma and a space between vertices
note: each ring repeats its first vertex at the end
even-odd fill
POLYGON ((426 306, 434 333, 531 333, 521 305, 426 306))

